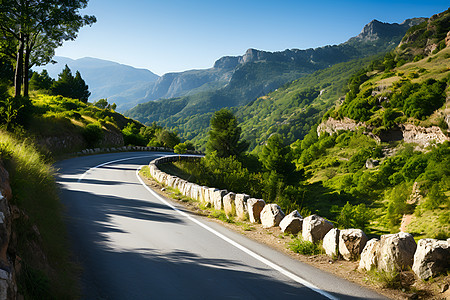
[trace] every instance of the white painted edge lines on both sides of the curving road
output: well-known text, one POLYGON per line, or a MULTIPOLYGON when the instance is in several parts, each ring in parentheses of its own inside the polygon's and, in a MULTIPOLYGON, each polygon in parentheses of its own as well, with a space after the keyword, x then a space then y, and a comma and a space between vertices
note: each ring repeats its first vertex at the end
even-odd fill
MULTIPOLYGON (((99 164, 95 167, 90 168, 89 170, 87 170, 86 172, 84 172, 79 178, 78 178, 78 182, 81 182, 84 177, 91 171, 91 170, 95 170, 97 168, 103 167, 105 165, 109 165, 112 163, 116 163, 116 162, 120 162, 120 161, 125 161, 125 160, 132 160, 132 159, 136 159, 136 158, 143 158, 143 157, 151 157, 151 156, 134 156, 134 157, 128 157, 128 158, 121 158, 121 159, 116 159, 116 160, 112 160, 112 161, 108 161, 102 164, 99 164)), ((265 259, 264 257, 262 257, 261 255, 253 252, 252 250, 242 246, 241 244, 233 241, 232 239, 224 236, 223 234, 221 234, 220 232, 212 229, 211 227, 203 224, 202 222, 196 220, 195 218, 193 218, 192 216, 188 215, 187 213, 179 210, 178 208, 176 208, 175 206, 173 206, 171 203, 169 203, 168 201, 166 201, 164 198, 162 198, 161 196, 159 196, 156 192, 154 192, 152 189, 150 189, 145 182, 142 180, 142 178, 139 176, 139 171, 141 170, 143 166, 140 166, 137 170, 136 170, 136 177, 139 180, 139 182, 142 184, 142 186, 148 191, 150 192, 150 194, 152 194, 154 197, 156 197, 159 201, 161 201, 163 204, 167 205, 168 207, 172 208, 174 211, 176 211, 178 214, 182 215, 183 217, 188 218, 189 220, 191 220, 192 222, 196 223, 197 225, 199 225, 200 227, 208 230, 209 232, 211 232, 212 234, 216 235, 217 237, 221 238, 222 240, 226 241, 227 243, 231 244, 232 246, 238 248, 239 250, 247 253, 248 255, 250 255, 251 257, 255 258, 256 260, 259 260, 260 262, 262 262, 263 264, 271 267, 272 269, 280 272, 281 274, 283 274, 284 276, 292 279, 295 282, 300 283, 301 285, 313 290, 314 292, 328 298, 331 300, 338 300, 337 297, 331 295, 328 292, 325 292, 321 289, 319 289, 317 286, 315 286, 314 284, 306 281, 303 278, 300 278, 299 276, 295 275, 292 272, 289 272, 288 270, 280 267, 279 265, 265 259)))

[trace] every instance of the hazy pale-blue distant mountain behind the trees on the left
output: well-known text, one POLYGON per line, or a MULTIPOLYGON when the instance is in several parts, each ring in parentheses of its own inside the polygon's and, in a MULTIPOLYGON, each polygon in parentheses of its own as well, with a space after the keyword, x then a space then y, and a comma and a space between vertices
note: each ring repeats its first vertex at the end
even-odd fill
POLYGON ((41 72, 46 69, 51 77, 57 79, 64 66, 68 65, 73 73, 80 71, 89 85, 91 102, 108 98, 110 103, 117 104, 118 111, 132 107, 130 99, 144 97, 149 86, 159 79, 158 75, 149 70, 97 58, 85 57, 73 60, 56 56, 53 60, 56 61, 55 64, 35 67, 34 71, 41 72))

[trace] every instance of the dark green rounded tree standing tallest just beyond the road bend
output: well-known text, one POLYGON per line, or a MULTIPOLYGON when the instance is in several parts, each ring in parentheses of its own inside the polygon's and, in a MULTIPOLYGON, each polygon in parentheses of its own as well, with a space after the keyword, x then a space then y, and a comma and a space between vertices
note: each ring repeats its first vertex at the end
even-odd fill
POLYGON ((241 128, 236 117, 228 109, 216 111, 210 121, 211 129, 206 145, 207 153, 217 152, 218 157, 239 156, 249 146, 240 141, 241 128))

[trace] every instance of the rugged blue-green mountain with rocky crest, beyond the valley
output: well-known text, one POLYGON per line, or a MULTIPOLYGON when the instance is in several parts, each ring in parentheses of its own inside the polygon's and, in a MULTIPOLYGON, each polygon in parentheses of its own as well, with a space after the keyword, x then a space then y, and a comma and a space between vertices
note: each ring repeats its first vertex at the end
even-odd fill
MULTIPOLYGON (((411 26, 422 21, 423 18, 416 18, 402 24, 389 24, 374 20, 357 37, 340 45, 280 52, 249 49, 242 56, 223 57, 216 61, 213 68, 196 71, 197 76, 206 73, 221 74, 209 77, 212 81, 199 81, 197 86, 200 92, 195 93, 195 89, 189 92, 184 90, 186 95, 183 97, 149 101, 137 105, 125 114, 147 124, 159 122, 178 130, 184 138, 192 139, 205 133, 211 112, 222 107, 247 105, 288 82, 332 65, 392 50, 411 26)), ((157 99, 164 91, 165 96, 176 95, 177 93, 169 91, 183 90, 180 83, 187 86, 184 78, 188 74, 190 73, 173 73, 170 78, 163 76, 153 87, 153 91, 161 93, 148 93, 145 99, 157 99), (160 88, 160 82, 163 81, 164 88, 160 88)), ((197 138, 199 139, 201 138, 197 138)))

